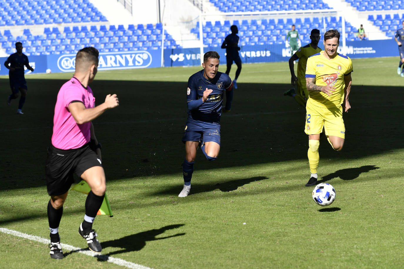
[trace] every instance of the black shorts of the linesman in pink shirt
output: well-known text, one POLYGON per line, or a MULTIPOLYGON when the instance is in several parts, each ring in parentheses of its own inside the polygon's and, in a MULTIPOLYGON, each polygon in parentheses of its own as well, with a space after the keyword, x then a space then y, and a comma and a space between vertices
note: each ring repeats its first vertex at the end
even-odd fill
POLYGON ((45 168, 48 194, 66 193, 74 183, 73 173, 80 177, 84 171, 95 166, 102 167, 101 160, 90 148, 90 143, 71 150, 61 150, 50 145, 45 168))

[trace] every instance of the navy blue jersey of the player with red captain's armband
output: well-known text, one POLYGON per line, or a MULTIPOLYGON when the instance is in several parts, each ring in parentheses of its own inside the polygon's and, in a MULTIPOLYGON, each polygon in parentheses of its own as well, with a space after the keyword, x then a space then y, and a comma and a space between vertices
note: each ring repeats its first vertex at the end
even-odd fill
POLYGON ((206 100, 196 109, 188 110, 188 117, 197 121, 220 122, 222 114, 223 93, 230 91, 232 83, 230 77, 222 72, 217 72, 212 79, 203 76, 203 69, 188 79, 187 102, 202 98, 203 92, 208 88, 213 90, 206 100))

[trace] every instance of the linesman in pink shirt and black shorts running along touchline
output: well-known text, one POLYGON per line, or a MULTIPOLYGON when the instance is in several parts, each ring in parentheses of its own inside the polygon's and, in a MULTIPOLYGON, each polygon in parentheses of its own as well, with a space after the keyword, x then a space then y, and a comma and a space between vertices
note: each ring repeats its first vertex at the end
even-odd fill
POLYGON ((76 71, 57 94, 53 117, 52 144, 46 160, 46 186, 50 200, 48 221, 50 257, 62 259, 59 223, 67 192, 74 183, 73 173, 84 179, 91 191, 86 199, 84 221, 78 229, 88 248, 101 252, 101 244, 93 229, 93 221, 105 195, 105 173, 101 164, 101 144, 97 141, 91 121, 106 110, 119 105, 116 94, 108 94, 105 102, 95 106, 93 91, 88 86, 98 67, 98 50, 83 48, 76 54, 76 71))

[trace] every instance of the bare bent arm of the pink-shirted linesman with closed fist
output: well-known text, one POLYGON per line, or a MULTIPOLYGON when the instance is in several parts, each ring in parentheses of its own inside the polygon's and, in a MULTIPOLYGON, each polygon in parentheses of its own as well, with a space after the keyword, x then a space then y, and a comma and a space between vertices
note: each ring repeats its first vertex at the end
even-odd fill
POLYGON ((110 108, 119 106, 119 100, 116 94, 108 94, 105 102, 95 108, 86 108, 82 102, 70 103, 68 108, 77 124, 83 124, 99 117, 110 108))

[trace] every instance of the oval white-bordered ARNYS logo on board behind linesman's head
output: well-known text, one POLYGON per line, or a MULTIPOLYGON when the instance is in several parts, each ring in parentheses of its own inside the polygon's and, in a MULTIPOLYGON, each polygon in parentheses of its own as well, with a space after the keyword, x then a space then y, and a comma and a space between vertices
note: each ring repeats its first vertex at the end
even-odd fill
MULTIPOLYGON (((98 70, 145 68, 151 64, 151 54, 146 50, 102 52, 98 57, 98 70)), ((74 71, 76 54, 64 54, 57 59, 57 67, 63 72, 74 71)))

